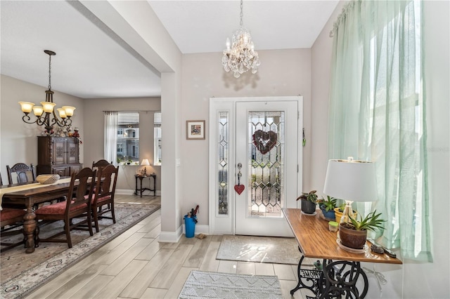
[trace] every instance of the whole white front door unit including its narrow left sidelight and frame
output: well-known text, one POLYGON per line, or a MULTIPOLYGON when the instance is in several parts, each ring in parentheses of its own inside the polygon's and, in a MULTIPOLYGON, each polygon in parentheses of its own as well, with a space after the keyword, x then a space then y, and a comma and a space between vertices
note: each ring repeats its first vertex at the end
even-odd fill
POLYGON ((210 233, 292 237, 302 98, 212 99, 210 121, 210 233))

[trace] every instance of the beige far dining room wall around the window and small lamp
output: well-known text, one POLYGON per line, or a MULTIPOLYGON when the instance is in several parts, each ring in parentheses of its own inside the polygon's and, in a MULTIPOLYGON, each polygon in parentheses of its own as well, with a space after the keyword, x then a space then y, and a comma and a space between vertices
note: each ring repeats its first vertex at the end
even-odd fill
MULTIPOLYGON (((148 158, 153 164, 153 112, 161 110, 160 98, 102 98, 84 100, 84 158, 85 166, 91 167, 93 161, 103 159, 104 118, 103 111, 141 111, 139 114, 139 161, 148 158), (147 112, 145 112, 147 111, 147 112)), ((136 171, 140 166, 120 166, 117 190, 127 193, 134 190, 136 171)), ((161 190, 161 166, 147 166, 147 170, 157 175, 156 190, 161 190)), ((146 182, 148 184, 148 182, 146 182)))

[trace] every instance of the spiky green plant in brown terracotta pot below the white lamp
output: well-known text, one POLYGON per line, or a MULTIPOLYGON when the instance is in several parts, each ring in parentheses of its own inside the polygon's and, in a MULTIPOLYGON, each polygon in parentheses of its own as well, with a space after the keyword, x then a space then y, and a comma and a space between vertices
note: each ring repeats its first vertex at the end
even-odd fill
POLYGON ((364 219, 362 219, 361 215, 359 216, 359 220, 350 216, 350 222, 340 222, 339 237, 341 244, 349 248, 364 248, 368 230, 375 230, 376 228, 384 229, 383 222, 385 220, 380 219, 381 213, 377 214, 376 212, 375 210, 368 213, 364 219))

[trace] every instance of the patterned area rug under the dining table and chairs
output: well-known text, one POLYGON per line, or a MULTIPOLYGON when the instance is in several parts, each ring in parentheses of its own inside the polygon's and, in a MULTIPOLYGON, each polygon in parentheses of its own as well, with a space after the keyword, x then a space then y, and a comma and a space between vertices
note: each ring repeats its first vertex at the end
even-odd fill
MULTIPOLYGON (((30 293, 159 209, 155 204, 115 204, 116 223, 100 220, 100 232, 96 233, 94 227, 92 237, 89 232, 72 231, 72 248, 65 243, 43 242, 34 253, 25 253, 23 246, 1 253, 0 297, 19 298, 30 293)), ((44 226, 40 234, 45 237, 54 225, 58 222, 44 226)))

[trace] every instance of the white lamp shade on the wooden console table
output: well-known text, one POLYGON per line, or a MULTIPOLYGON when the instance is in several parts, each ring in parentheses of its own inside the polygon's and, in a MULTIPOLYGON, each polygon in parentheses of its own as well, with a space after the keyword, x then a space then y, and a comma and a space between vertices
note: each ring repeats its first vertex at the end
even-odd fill
POLYGON ((329 160, 323 193, 347 201, 378 200, 375 164, 356 160, 329 160))

